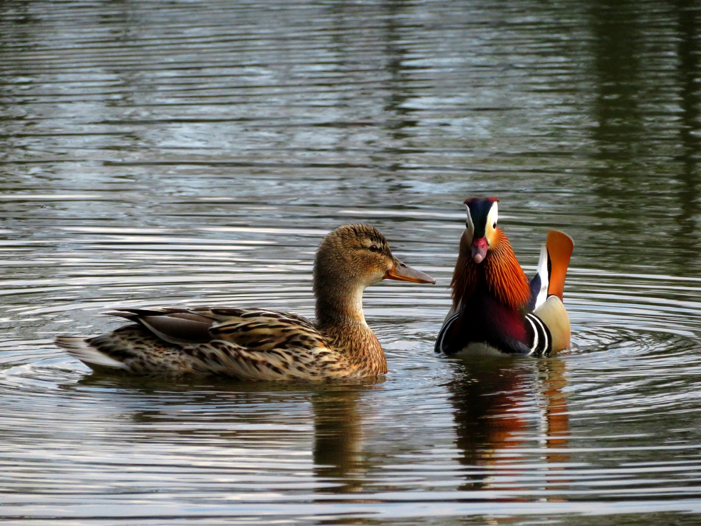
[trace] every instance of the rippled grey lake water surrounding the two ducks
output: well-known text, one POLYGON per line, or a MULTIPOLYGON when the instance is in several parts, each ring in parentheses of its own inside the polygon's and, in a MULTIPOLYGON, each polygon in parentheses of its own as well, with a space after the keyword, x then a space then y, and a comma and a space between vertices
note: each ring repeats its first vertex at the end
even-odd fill
POLYGON ((0 1, 0 518, 22 525, 697 524, 701 11, 691 1, 0 1), (613 6, 609 4, 614 4, 613 6), (573 345, 433 353, 467 196, 573 345), (313 315, 339 224, 383 282, 367 382, 93 375, 116 306, 313 315))

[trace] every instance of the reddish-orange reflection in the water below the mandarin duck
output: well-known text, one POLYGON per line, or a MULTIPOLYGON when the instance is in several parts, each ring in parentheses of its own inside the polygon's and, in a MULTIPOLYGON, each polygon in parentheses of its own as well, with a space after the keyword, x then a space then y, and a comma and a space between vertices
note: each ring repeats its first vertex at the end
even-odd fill
POLYGON ((545 443, 549 462, 566 461, 559 452, 569 436, 563 389, 565 363, 558 358, 542 360, 474 359, 463 361, 448 386, 455 408, 456 445, 468 471, 462 490, 489 487, 493 473, 483 467, 517 468, 523 459, 519 447, 537 438, 545 443))

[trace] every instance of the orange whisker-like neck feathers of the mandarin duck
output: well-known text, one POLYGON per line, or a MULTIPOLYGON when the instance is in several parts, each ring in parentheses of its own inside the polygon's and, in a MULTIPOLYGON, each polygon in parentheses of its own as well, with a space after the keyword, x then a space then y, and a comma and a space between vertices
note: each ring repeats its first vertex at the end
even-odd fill
POLYGON ((467 304, 480 287, 485 287, 499 302, 511 309, 522 309, 531 297, 526 274, 519 265, 508 238, 496 229, 496 241, 489 247, 482 263, 472 259, 472 239, 465 231, 460 240, 460 252, 451 287, 453 306, 467 304))

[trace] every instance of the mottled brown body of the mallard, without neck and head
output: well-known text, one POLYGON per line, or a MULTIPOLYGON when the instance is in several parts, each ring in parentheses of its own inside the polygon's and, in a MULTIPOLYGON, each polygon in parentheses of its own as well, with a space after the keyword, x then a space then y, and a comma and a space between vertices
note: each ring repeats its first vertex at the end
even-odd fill
POLYGON ((239 379, 319 379, 353 375, 311 321, 264 309, 123 309, 135 321, 93 338, 57 344, 96 370, 136 375, 226 375, 239 379))

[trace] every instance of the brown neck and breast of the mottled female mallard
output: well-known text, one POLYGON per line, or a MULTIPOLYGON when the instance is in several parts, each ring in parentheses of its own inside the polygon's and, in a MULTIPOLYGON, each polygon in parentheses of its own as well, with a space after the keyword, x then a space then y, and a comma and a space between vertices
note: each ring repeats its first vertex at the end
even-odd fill
POLYGON ((315 279, 316 327, 351 363, 381 375, 387 372, 387 360, 380 342, 365 323, 364 289, 343 281, 319 283, 315 279))

